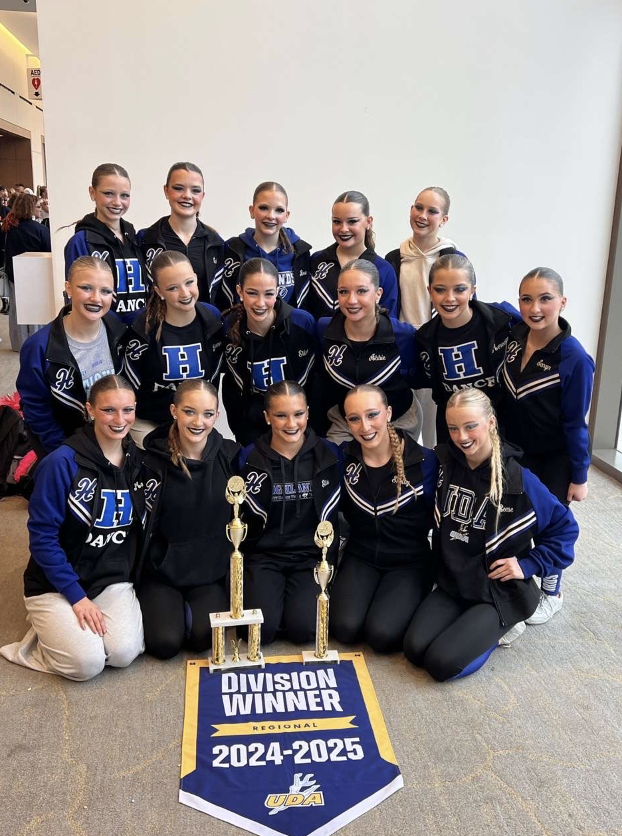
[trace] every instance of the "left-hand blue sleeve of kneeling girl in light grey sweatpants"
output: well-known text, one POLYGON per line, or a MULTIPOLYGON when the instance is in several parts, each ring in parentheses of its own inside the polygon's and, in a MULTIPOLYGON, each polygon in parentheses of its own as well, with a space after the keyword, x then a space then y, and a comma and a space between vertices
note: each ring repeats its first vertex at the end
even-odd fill
POLYGON ((61 547, 60 531, 77 469, 70 447, 61 447, 46 456, 35 472, 35 487, 28 506, 30 554, 52 586, 72 606, 86 593, 61 547))

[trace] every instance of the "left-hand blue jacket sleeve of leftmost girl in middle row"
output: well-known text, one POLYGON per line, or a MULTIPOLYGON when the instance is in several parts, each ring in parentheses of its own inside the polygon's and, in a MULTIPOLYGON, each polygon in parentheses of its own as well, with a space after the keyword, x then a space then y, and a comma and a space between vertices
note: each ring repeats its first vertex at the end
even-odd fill
POLYGON ((52 414, 52 394, 45 380, 45 347, 47 329, 29 337, 19 355, 17 391, 22 399, 24 420, 28 428, 51 453, 65 440, 63 428, 52 414))

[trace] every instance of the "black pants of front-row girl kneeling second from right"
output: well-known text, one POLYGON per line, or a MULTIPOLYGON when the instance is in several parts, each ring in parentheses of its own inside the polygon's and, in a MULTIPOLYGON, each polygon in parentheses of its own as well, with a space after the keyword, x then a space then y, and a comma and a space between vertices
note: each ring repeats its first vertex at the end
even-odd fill
POLYGON ((331 633, 344 644, 364 640, 378 653, 399 650, 431 587, 421 569, 379 569, 346 554, 330 596, 331 633))

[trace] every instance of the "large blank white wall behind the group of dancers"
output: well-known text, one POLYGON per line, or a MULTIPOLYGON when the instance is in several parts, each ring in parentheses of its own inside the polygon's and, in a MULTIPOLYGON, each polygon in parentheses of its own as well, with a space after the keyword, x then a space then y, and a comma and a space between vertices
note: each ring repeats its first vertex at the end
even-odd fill
POLYGON ((105 161, 130 171, 129 219, 152 223, 168 166, 189 159, 206 175, 203 218, 225 237, 275 179, 315 248, 332 242, 333 198, 365 192, 384 254, 409 234, 416 193, 442 185, 480 298, 513 300, 527 270, 554 267, 595 353, 619 0, 39 0, 38 14, 54 227, 89 211, 105 161))

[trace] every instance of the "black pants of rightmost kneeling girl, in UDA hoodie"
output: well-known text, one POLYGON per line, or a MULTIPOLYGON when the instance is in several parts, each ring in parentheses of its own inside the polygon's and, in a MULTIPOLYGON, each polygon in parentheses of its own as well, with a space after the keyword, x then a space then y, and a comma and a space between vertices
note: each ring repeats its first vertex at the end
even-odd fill
POLYGON ((493 604, 461 601, 437 587, 415 613, 404 653, 413 665, 444 682, 481 667, 488 658, 485 654, 512 626, 501 624, 493 604), (476 664, 480 657, 484 658, 476 664))

